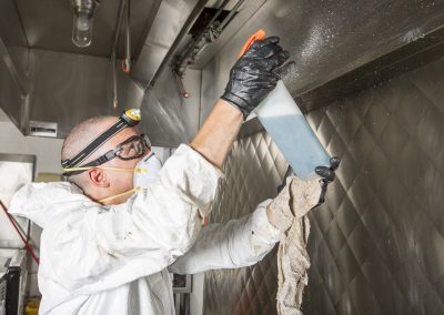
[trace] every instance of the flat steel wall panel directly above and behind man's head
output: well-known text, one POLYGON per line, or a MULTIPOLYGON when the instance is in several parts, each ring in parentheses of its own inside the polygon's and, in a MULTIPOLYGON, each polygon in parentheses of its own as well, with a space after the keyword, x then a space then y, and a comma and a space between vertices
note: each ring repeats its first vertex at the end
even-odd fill
POLYGON ((112 70, 107 58, 32 49, 30 120, 57 122, 59 138, 81 121, 139 108, 143 92, 118 71, 119 110, 112 109, 112 70))

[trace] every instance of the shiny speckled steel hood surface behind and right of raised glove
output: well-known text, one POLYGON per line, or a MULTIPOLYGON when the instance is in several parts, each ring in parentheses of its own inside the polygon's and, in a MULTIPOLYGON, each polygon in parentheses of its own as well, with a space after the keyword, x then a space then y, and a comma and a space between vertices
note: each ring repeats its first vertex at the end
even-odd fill
MULTIPOLYGON (((242 9, 246 10, 252 2, 245 2, 242 9)), ((240 49, 258 29, 279 35, 290 51, 296 70, 285 79, 285 84, 293 96, 300 96, 421 41, 444 26, 444 1, 435 0, 273 0, 256 9, 249 19, 233 21, 224 31, 231 35, 222 35, 219 43, 212 44, 215 49, 208 47, 200 57, 203 104, 211 106, 222 93, 240 49), (205 53, 211 55, 210 60, 205 53)), ((392 62, 404 57, 397 58, 392 62)), ((204 114, 208 112, 203 110, 204 114)))

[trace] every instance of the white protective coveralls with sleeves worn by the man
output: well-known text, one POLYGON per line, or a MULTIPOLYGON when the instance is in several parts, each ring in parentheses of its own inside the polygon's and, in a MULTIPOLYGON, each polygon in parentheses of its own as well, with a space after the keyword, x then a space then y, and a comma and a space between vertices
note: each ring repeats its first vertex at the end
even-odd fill
POLYGON ((266 219, 269 201, 249 217, 210 224, 199 234, 198 212, 208 214, 220 176, 181 145, 159 180, 123 204, 100 205, 70 183, 23 186, 10 211, 43 228, 40 314, 172 315, 169 270, 185 274, 260 261, 280 235, 266 219))

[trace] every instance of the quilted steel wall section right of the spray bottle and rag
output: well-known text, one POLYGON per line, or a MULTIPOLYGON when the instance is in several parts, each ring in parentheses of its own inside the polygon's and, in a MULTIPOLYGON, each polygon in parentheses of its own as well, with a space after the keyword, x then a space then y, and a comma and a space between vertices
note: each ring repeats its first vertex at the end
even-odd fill
POLYGON ((444 314, 444 60, 309 116, 342 158, 306 314, 444 314))

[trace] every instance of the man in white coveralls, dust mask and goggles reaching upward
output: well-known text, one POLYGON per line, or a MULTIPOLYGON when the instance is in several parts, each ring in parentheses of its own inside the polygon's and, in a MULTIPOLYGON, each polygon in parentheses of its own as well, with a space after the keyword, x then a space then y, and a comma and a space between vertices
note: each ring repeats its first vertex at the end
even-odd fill
POLYGON ((280 236, 271 201, 223 226, 201 228, 201 220, 242 122, 273 90, 287 58, 279 38, 254 42, 195 139, 163 167, 134 126, 137 111, 71 131, 61 153, 70 182, 26 185, 11 203, 12 214, 43 228, 40 314, 174 314, 170 272, 262 260, 280 236))

